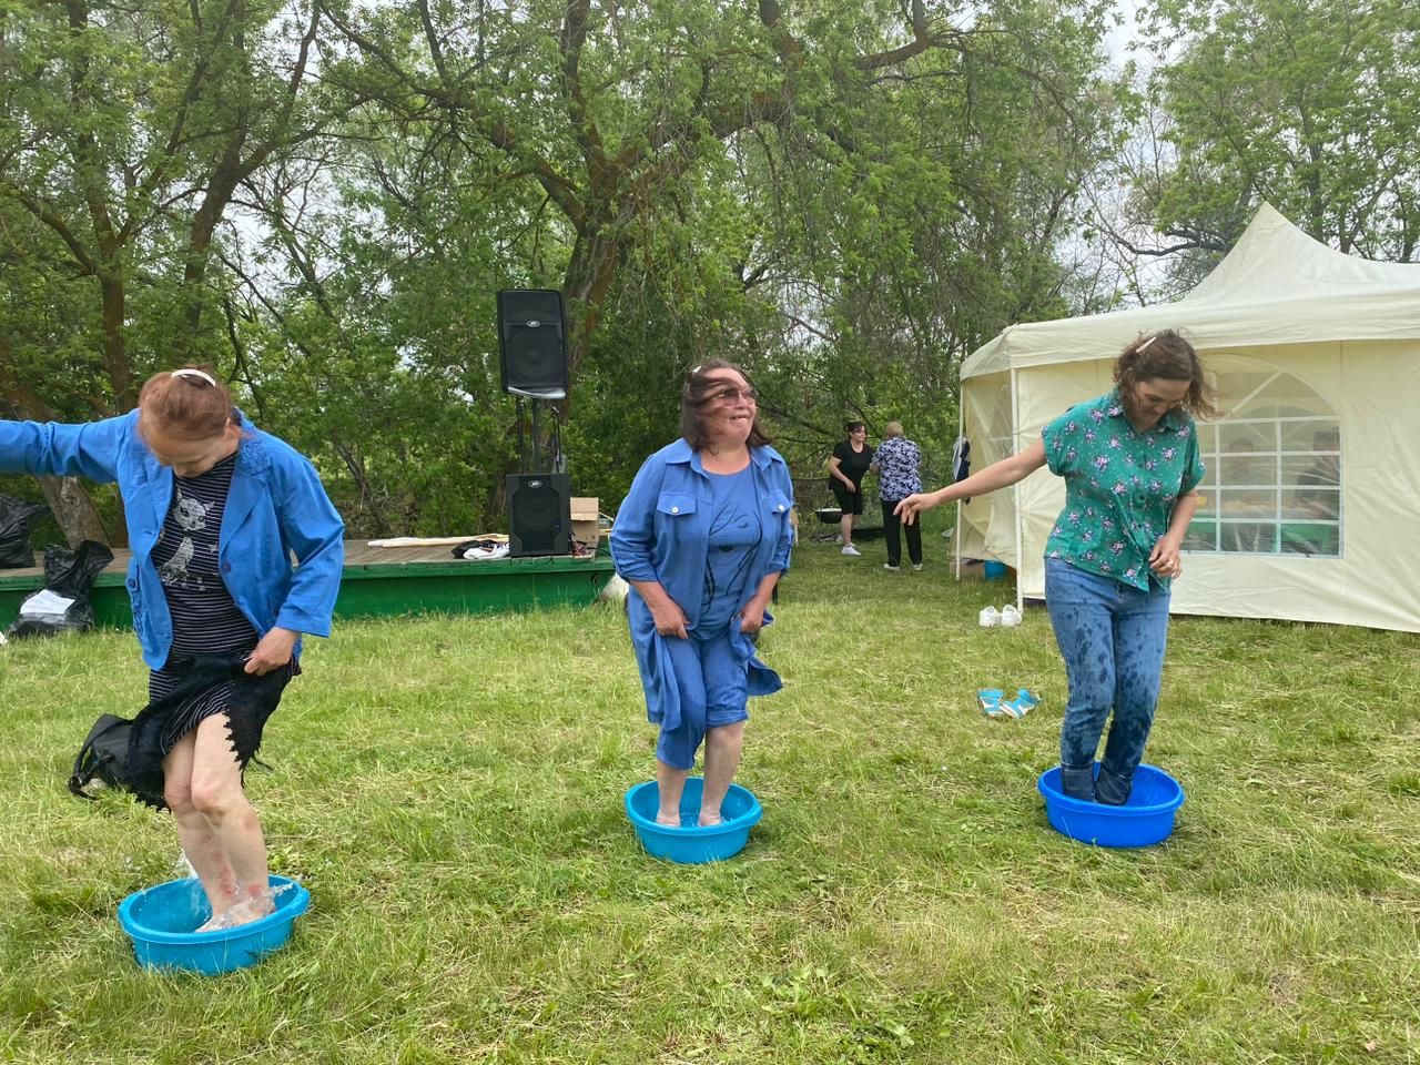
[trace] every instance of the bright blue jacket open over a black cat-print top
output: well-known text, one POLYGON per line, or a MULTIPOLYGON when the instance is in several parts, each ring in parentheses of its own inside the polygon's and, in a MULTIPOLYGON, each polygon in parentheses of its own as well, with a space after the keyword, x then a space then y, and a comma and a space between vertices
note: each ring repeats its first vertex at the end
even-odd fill
MULTIPOLYGON (((258 636, 277 626, 329 636, 345 524, 305 456, 246 417, 241 432, 219 535, 222 579, 258 636)), ((151 555, 172 504, 173 474, 139 436, 138 412, 85 425, 0 420, 0 470, 118 483, 132 551, 133 629, 143 662, 162 669, 173 629, 151 555)))

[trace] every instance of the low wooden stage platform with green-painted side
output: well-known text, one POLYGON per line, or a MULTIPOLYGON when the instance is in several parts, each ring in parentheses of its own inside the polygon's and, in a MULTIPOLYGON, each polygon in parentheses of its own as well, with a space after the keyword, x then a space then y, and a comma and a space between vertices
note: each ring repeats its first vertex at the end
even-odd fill
MULTIPOLYGON (((99 625, 131 628, 124 579, 129 552, 115 558, 94 582, 91 602, 99 625)), ((41 555, 36 562, 43 561, 41 555)), ((615 571, 611 557, 454 558, 449 547, 369 547, 345 541, 345 572, 335 601, 337 618, 386 618, 403 613, 487 613, 528 611, 596 599, 615 571)), ((44 569, 0 569, 0 630, 20 604, 44 586, 44 569)))

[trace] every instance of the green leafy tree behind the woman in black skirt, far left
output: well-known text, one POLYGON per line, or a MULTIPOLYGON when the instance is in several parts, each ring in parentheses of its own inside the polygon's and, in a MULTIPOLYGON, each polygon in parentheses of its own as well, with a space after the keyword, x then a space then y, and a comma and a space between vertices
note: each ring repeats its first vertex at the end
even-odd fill
MULTIPOLYGON (((61 345, 92 344, 88 416, 132 409, 159 358, 222 352, 204 315, 214 234, 237 186, 324 125, 302 106, 315 30, 247 0, 0 9, 0 207, 38 223, 9 253, 92 293, 97 314, 77 312, 61 345)), ((41 417, 70 403, 74 375, 34 358, 48 372, 10 396, 41 417)))

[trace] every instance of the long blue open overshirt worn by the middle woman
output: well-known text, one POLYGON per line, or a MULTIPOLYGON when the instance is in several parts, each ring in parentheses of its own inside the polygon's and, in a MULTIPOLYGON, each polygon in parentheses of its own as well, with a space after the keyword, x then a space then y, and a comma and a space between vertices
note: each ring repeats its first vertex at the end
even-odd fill
MULTIPOLYGON (((746 662, 751 696, 764 696, 782 687, 778 674, 760 662, 754 642, 740 632, 738 611, 758 591, 770 574, 790 568, 794 483, 782 456, 772 447, 751 447, 750 466, 754 469, 754 491, 765 513, 764 528, 772 530, 755 548, 750 567, 750 581, 744 602, 736 604, 730 642, 746 662)), ((616 572, 626 581, 659 581, 666 594, 686 615, 686 629, 694 635, 700 619, 700 599, 704 588, 706 554, 710 548, 710 503, 713 488, 710 474, 684 439, 666 444, 650 456, 630 491, 616 511, 612 525, 612 559, 616 572)), ((663 728, 680 723, 680 701, 665 640, 656 632, 650 608, 632 588, 626 612, 630 621, 632 645, 646 690, 646 710, 652 721, 663 728)), ((765 623, 771 622, 768 612, 765 623)), ((670 638, 674 639, 674 638, 670 638)))

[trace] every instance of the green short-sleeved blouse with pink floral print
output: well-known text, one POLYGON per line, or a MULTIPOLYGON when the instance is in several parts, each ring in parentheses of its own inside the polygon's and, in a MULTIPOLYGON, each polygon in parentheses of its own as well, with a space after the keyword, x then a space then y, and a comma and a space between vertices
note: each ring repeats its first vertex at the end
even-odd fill
POLYGON ((1041 439, 1051 473, 1065 479, 1065 510, 1045 557, 1149 591, 1149 554, 1169 531, 1173 504, 1203 480, 1193 417, 1174 409, 1139 432, 1115 389, 1072 406, 1041 439))

